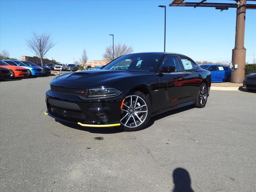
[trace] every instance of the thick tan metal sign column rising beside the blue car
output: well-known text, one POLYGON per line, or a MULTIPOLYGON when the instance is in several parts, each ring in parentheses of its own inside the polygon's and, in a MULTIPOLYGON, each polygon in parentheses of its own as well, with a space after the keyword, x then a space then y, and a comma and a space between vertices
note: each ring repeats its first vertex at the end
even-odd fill
POLYGON ((244 48, 245 15, 246 0, 237 0, 236 38, 235 47, 232 50, 232 83, 242 83, 244 80, 244 68, 246 57, 246 49, 244 48))

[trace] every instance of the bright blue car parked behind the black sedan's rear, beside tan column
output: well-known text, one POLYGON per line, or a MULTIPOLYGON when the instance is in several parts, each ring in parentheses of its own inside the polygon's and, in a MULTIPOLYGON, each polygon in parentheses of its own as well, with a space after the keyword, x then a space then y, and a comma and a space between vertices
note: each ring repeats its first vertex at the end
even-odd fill
POLYGON ((211 72, 212 83, 230 82, 232 71, 229 67, 216 64, 200 65, 200 67, 211 72))

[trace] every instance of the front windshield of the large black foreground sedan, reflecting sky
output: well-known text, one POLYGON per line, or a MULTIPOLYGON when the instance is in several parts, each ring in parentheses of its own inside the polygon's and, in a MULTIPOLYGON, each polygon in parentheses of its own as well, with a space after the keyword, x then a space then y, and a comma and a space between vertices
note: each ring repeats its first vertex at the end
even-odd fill
POLYGON ((160 54, 124 55, 110 62, 102 69, 153 72, 160 57, 160 54))

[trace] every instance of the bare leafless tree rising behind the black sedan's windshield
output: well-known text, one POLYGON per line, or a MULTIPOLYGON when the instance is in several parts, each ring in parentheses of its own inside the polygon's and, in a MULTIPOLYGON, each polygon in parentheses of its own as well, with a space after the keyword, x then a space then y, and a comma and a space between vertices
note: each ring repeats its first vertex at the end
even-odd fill
MULTIPOLYGON (((114 46, 114 59, 118 58, 122 55, 130 54, 134 50, 131 46, 127 46, 126 44, 116 44, 114 46)), ((104 59, 113 60, 113 46, 110 45, 106 47, 105 53, 103 54, 104 59)))

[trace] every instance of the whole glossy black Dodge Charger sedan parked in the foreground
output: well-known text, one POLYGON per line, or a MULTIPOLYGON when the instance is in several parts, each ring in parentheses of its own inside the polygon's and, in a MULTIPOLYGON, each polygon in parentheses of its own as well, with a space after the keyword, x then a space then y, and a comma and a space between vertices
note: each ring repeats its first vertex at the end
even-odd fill
POLYGON ((54 78, 46 115, 89 127, 140 130, 150 117, 171 109, 206 105, 210 71, 181 54, 149 52, 116 58, 102 70, 54 78))

